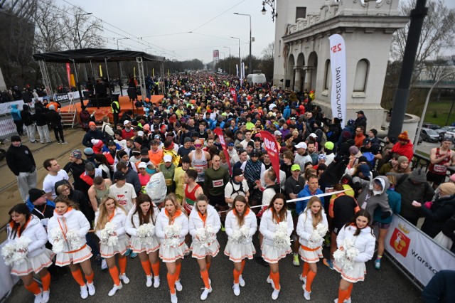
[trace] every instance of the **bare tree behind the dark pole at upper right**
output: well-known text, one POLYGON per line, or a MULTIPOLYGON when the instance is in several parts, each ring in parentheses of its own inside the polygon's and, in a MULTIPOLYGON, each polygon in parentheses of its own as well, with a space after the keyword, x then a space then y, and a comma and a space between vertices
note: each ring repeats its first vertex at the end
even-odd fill
MULTIPOLYGON (((403 16, 410 16, 416 0, 400 1, 400 11, 403 16)), ((442 0, 428 1, 428 15, 424 19, 422 33, 417 49, 415 61, 416 71, 414 80, 422 71, 426 60, 437 58, 445 50, 455 46, 455 9, 449 9, 442 0)), ((405 28, 395 31, 392 36, 390 55, 396 61, 402 61, 405 54, 406 39, 409 32, 409 23, 405 28)))

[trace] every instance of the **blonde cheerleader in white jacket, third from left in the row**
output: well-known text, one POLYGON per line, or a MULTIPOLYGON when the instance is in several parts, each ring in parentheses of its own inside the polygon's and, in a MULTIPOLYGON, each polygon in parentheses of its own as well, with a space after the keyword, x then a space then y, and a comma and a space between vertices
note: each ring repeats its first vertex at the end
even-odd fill
MULTIPOLYGON (((107 294, 109 297, 113 296, 118 289, 122 289, 122 282, 129 283, 129 278, 125 274, 127 270, 127 258, 125 252, 129 248, 128 237, 125 232, 125 223, 127 220, 127 212, 119 202, 112 196, 104 196, 101 199, 100 207, 95 213, 95 233, 100 238, 100 253, 104 257, 109 267, 109 274, 114 280, 114 287, 107 294), (110 235, 117 236, 115 243, 108 243, 107 238, 103 238, 103 232, 107 223, 113 223, 115 230, 110 235), (117 265, 115 264, 115 255, 119 257, 120 275, 117 265), (122 280, 122 282, 120 282, 122 280)), ((106 230, 108 233, 109 231, 106 230)))

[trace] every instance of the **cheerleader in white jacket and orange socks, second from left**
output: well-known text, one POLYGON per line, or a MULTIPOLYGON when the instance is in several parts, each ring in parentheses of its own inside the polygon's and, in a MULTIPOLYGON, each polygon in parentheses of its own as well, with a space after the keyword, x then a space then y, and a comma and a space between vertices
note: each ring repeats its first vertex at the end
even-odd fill
POLYGON ((48 223, 48 240, 52 244, 54 252, 58 250, 55 265, 70 267, 71 275, 80 285, 80 297, 86 299, 89 294, 90 296, 95 294, 94 274, 90 264, 92 252, 85 241, 85 235, 90 230, 90 223, 83 213, 77 211, 77 206, 68 196, 60 195, 55 198, 54 202, 54 216, 49 219, 48 223), (80 272, 81 267, 87 284, 80 272))

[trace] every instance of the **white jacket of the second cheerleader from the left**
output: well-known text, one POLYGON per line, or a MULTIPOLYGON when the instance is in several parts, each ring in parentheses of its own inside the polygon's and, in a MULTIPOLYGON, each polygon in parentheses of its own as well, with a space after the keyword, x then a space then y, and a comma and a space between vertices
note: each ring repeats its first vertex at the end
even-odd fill
POLYGON ((58 215, 54 211, 54 216, 49 219, 48 240, 52 245, 54 244, 54 239, 51 236, 51 231, 54 228, 62 230, 63 234, 68 233, 69 230, 76 230, 80 237, 80 248, 82 248, 87 243, 85 235, 90 230, 90 223, 82 212, 71 208, 63 216, 58 215))

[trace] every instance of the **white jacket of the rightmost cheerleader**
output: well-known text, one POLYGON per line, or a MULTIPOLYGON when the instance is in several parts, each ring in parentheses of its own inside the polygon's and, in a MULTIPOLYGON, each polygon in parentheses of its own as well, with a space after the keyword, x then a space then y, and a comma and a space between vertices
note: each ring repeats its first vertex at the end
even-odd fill
POLYGON ((355 230, 357 230, 357 226, 355 225, 341 228, 338 237, 336 237, 336 245, 340 248, 343 246, 343 240, 350 238, 359 252, 354 261, 367 262, 368 260, 371 260, 373 253, 375 252, 375 236, 371 233, 370 226, 362 228, 360 234, 357 236, 354 236, 355 230))

